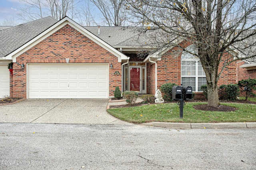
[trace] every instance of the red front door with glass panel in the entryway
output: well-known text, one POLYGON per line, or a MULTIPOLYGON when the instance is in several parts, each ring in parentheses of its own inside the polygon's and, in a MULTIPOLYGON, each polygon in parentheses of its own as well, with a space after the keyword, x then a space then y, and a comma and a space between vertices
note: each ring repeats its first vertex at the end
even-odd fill
POLYGON ((130 91, 140 93, 140 67, 130 67, 130 91))

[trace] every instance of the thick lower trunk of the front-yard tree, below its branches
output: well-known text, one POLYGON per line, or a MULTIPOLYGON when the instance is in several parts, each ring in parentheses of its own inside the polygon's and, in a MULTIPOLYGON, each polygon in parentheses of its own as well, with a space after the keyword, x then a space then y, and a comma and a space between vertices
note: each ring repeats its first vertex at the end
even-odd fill
POLYGON ((208 106, 217 107, 218 105, 220 105, 217 85, 209 85, 207 83, 207 97, 208 106))

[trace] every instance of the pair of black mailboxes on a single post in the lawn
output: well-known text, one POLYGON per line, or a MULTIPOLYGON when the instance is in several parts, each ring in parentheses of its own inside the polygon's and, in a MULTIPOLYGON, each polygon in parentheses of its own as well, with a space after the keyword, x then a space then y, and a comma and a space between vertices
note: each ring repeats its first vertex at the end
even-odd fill
POLYGON ((186 86, 183 87, 182 83, 180 86, 172 87, 172 100, 177 100, 177 104, 180 107, 180 119, 183 118, 183 106, 186 105, 184 100, 191 100, 192 99, 192 87, 186 86))

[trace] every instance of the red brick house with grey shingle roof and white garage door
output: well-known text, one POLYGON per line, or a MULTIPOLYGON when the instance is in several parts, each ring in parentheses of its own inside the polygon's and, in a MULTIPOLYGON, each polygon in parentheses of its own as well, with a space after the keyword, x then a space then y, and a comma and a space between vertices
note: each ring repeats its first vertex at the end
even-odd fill
MULTIPOLYGON (((138 56, 144 40, 137 42, 139 33, 124 27, 82 27, 68 17, 46 17, 0 30, 0 36, 0 97, 108 99, 116 86, 154 95, 168 82, 202 94, 200 86, 206 84, 200 62, 177 47, 138 56)), ((218 84, 237 80, 232 63, 218 84)))

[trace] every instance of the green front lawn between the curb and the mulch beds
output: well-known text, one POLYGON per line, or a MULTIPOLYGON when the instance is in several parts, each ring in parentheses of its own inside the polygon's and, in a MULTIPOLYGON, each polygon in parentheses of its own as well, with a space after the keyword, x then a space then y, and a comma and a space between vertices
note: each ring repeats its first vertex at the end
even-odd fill
POLYGON ((108 109, 108 113, 120 120, 130 123, 147 122, 183 122, 183 123, 212 123, 212 122, 256 122, 256 105, 222 103, 236 107, 235 112, 199 111, 194 105, 207 103, 187 103, 183 109, 183 119, 180 119, 179 107, 176 103, 153 104, 140 107, 108 109))

